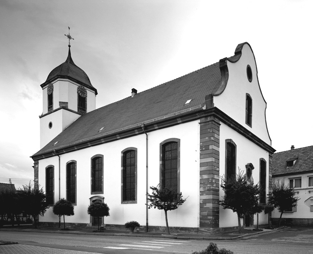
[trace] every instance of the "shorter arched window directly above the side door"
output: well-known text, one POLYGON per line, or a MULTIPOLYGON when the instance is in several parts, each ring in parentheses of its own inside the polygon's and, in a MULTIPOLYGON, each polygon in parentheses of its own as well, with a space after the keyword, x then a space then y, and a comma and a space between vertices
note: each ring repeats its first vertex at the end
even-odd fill
POLYGON ((91 158, 91 194, 103 194, 103 155, 91 158))

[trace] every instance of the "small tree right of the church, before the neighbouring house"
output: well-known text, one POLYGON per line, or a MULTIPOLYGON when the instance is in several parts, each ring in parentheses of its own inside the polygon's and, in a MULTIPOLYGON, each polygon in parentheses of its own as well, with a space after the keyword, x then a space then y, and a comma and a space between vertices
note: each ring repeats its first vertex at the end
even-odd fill
POLYGON ((269 196, 269 203, 280 211, 280 217, 278 221, 278 226, 280 226, 280 221, 284 211, 295 207, 299 197, 295 197, 294 188, 290 188, 289 185, 285 185, 285 182, 273 183, 272 194, 269 196))

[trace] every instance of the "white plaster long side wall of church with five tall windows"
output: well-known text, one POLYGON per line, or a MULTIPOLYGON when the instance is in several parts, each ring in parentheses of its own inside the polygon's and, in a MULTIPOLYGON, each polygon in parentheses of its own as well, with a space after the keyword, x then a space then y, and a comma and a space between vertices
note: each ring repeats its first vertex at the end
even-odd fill
MULTIPOLYGON (((198 122, 159 129, 148 133, 149 137, 149 174, 148 186, 159 183, 159 143, 167 138, 180 139, 180 191, 187 201, 177 210, 168 212, 170 226, 198 227, 199 205, 199 133, 198 122)), ((87 207, 90 204, 90 158, 95 154, 104 155, 104 202, 110 207, 110 216, 104 218, 106 224, 124 224, 137 220, 146 225, 146 135, 138 135, 114 142, 89 147, 61 155, 61 198, 66 197, 66 163, 77 161, 77 205, 75 216, 67 217, 66 222, 90 222, 87 207), (121 204, 121 151, 127 147, 137 150, 137 204, 121 204)), ((39 184, 45 190, 45 168, 55 166, 55 201, 58 196, 58 157, 39 161, 39 184)), ((58 222, 58 216, 49 208, 40 221, 58 222)), ((165 226, 164 212, 149 209, 149 225, 165 226)))

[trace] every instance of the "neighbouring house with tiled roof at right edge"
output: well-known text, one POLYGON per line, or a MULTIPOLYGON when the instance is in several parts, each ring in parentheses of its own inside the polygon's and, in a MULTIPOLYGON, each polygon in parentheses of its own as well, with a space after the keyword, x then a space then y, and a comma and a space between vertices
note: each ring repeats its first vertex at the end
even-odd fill
MULTIPOLYGON (((285 211, 283 222, 292 225, 313 225, 313 146, 291 149, 273 155, 273 182, 284 181, 294 188, 300 198, 297 206, 285 211)), ((280 212, 272 212, 273 222, 277 222, 280 212)))

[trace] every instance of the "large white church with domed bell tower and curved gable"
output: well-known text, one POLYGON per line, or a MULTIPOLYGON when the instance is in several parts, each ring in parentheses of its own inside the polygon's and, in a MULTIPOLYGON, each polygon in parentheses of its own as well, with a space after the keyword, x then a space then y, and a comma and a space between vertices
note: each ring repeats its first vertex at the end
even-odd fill
MULTIPOLYGON (((219 205, 220 179, 238 168, 250 183, 260 183, 266 202, 275 150, 248 43, 239 44, 230 58, 146 91, 132 89, 129 97, 98 109, 97 90, 69 48, 66 62, 41 88, 41 149, 31 157, 35 184, 51 205, 42 223, 58 223, 52 206, 66 198, 75 206, 67 222, 96 225, 87 207, 101 200, 110 207, 102 225, 124 227, 136 220, 145 230, 162 230, 163 211, 146 205, 149 187, 160 184, 188 197, 169 212, 170 227, 235 227, 236 214, 219 205)), ((253 225, 256 216, 246 216, 244 223, 253 225)), ((259 223, 266 224, 267 215, 261 213, 259 223)))

